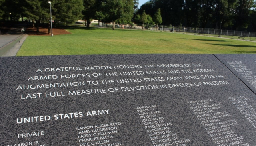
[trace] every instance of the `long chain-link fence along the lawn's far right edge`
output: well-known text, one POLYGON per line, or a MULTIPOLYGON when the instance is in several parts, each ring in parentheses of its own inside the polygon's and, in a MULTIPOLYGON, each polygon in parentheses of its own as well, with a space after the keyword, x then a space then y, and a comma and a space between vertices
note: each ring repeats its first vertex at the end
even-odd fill
MULTIPOLYGON (((98 26, 98 24, 92 24, 98 26)), ((99 27, 112 28, 112 24, 100 23, 99 27)), ((245 41, 256 41, 256 32, 242 32, 234 30, 220 30, 212 28, 193 28, 185 26, 164 26, 164 25, 148 25, 148 24, 116 24, 115 28, 149 30, 156 32, 173 32, 182 34, 194 34, 209 37, 222 37, 229 39, 240 39, 245 41)))

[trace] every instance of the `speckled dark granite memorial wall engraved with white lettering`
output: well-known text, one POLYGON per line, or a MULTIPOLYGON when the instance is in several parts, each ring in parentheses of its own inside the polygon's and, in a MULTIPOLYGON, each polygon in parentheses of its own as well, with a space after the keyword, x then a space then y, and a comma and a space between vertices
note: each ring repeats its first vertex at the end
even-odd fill
POLYGON ((255 88, 232 66, 256 60, 238 56, 2 57, 0 145, 256 146, 255 88))

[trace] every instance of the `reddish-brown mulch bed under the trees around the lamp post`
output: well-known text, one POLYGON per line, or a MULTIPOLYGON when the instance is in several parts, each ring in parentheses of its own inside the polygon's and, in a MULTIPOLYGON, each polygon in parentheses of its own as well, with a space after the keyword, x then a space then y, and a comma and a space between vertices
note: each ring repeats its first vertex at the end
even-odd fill
MULTIPOLYGON (((50 36, 48 34, 48 28, 39 28, 40 32, 36 32, 36 27, 35 28, 26 28, 26 34, 28 35, 40 35, 40 36, 50 36)), ((64 30, 64 29, 59 29, 59 28, 53 28, 52 29, 53 35, 61 35, 61 34, 71 34, 70 32, 64 30)))

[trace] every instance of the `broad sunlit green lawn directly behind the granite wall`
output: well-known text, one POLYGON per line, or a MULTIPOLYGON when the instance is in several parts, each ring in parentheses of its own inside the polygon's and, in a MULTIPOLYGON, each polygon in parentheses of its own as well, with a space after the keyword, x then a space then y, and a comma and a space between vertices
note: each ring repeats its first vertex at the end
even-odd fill
POLYGON ((256 43, 168 32, 84 27, 72 34, 28 36, 17 56, 145 53, 256 53, 256 43))

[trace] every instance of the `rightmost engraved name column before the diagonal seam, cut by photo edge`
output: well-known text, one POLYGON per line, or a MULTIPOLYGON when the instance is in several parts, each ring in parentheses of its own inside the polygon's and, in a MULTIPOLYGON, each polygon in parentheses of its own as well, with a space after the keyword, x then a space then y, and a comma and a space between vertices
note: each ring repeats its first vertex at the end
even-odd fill
POLYGON ((228 97, 228 99, 230 99, 234 106, 243 114, 246 120, 256 128, 256 111, 247 103, 250 99, 245 96, 228 97))

